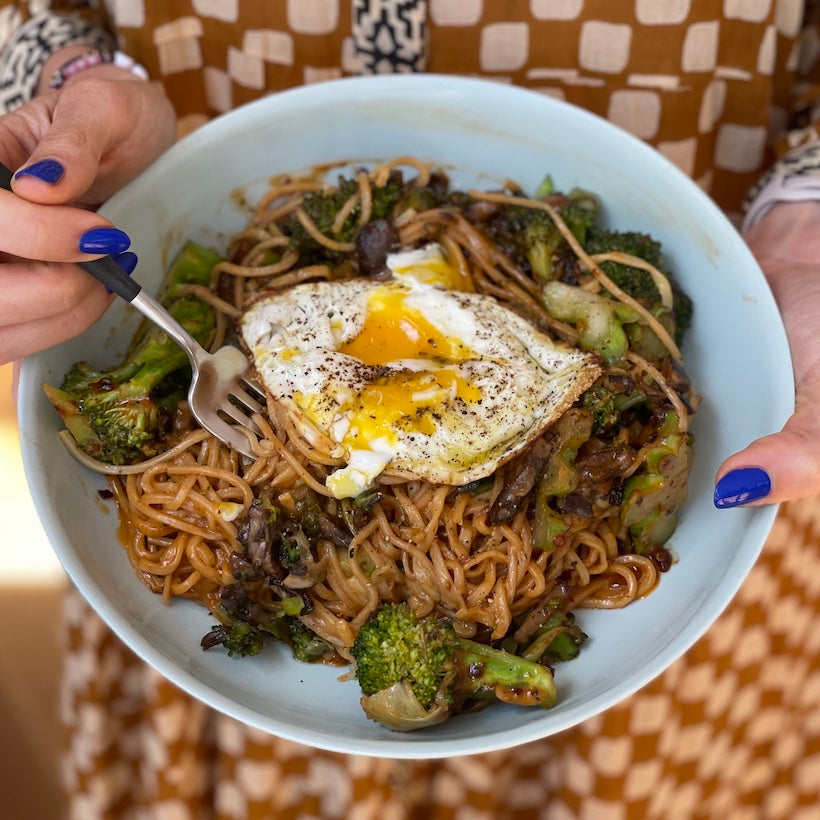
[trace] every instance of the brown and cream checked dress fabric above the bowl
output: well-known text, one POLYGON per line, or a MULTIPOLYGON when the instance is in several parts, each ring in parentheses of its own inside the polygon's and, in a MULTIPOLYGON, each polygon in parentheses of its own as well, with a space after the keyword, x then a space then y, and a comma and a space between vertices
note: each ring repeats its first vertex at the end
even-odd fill
MULTIPOLYGON (((426 5, 428 71, 516 83, 600 114, 656 146, 730 211, 770 163, 770 123, 786 127, 798 68, 810 74, 816 57, 815 40, 800 38, 800 0, 426 5)), ((119 0, 115 8, 123 48, 162 78, 189 122, 360 70, 351 0, 119 0)))

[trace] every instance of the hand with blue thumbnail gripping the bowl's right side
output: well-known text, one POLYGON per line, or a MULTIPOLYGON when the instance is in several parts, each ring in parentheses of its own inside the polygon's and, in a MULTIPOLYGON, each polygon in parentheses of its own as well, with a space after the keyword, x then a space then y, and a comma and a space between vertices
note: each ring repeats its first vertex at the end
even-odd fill
POLYGON ((776 205, 746 240, 774 293, 792 353, 795 412, 778 433, 730 456, 715 505, 734 507, 820 493, 820 202, 776 205))

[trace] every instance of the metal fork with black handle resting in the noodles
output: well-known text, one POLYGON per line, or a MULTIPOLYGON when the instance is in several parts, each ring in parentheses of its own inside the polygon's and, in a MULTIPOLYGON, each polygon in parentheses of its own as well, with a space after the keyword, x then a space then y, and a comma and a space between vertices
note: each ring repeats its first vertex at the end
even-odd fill
MULTIPOLYGON (((11 190, 11 171, 2 163, 0 187, 11 190)), ((258 439, 260 431, 251 414, 262 409, 265 391, 253 380, 247 356, 230 345, 209 353, 110 256, 78 264, 108 290, 130 302, 146 318, 159 325, 182 347, 193 369, 188 404, 194 418, 221 441, 253 457, 248 433, 258 439)))

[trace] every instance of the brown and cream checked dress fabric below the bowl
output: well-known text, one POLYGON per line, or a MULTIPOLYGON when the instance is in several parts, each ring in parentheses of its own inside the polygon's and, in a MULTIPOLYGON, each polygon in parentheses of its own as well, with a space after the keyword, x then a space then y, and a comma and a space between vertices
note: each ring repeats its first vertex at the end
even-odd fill
POLYGON ((820 505, 784 506, 727 611, 636 695, 543 741, 438 761, 317 751, 212 712, 72 593, 69 816, 817 820, 817 566, 820 505))

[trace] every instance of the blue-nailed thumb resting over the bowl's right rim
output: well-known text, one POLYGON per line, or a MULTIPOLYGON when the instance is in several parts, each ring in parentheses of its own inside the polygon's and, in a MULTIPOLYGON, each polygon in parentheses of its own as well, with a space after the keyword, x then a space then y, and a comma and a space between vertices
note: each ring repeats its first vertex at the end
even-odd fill
POLYGON ((797 408, 779 433, 753 441, 723 462, 716 507, 776 504, 820 494, 819 381, 798 390, 797 408))

